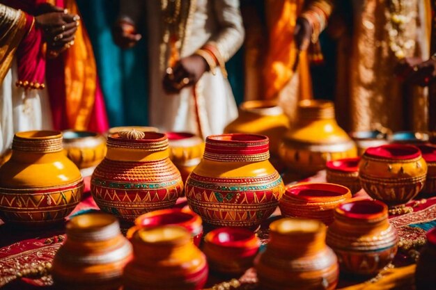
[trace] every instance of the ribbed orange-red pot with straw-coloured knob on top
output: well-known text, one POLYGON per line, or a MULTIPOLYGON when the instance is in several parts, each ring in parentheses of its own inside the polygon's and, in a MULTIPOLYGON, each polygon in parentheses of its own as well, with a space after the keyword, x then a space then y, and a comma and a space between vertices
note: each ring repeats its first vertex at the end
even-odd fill
POLYGON ((180 172, 169 160, 166 135, 136 130, 108 136, 106 157, 91 178, 98 207, 129 221, 173 207, 182 188, 180 172))

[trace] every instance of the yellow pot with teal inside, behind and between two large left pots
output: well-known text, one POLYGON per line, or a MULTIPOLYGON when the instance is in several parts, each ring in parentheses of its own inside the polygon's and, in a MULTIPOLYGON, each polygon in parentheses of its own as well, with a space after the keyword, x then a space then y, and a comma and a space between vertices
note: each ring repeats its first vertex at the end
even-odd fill
POLYGON ((106 154, 106 138, 88 131, 63 131, 63 149, 79 169, 93 168, 106 154))

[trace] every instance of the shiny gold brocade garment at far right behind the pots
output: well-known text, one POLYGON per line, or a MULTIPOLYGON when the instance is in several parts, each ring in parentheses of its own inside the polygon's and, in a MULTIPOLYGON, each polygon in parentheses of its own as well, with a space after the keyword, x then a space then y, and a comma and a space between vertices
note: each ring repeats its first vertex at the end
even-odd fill
POLYGON ((351 51, 340 56, 342 63, 338 64, 339 67, 348 65, 347 73, 338 78, 338 102, 349 103, 347 111, 350 113, 341 116, 341 125, 352 131, 371 130, 379 124, 392 131, 426 129, 426 90, 403 86, 395 74, 397 56, 426 58, 423 51, 428 51, 428 36, 423 3, 418 0, 355 0, 353 5, 351 51), (406 1, 412 8, 399 15, 407 25, 405 29, 395 29, 391 22, 398 11, 392 5, 406 1), (401 41, 407 45, 399 54, 396 45, 401 41), (349 58, 349 64, 345 58, 349 58), (349 101, 344 99, 347 90, 349 101))

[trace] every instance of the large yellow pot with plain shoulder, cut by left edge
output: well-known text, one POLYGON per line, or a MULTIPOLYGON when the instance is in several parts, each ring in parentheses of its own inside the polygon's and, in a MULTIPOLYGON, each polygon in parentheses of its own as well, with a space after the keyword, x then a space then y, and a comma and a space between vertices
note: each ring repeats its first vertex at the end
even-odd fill
POLYGON ((80 202, 84 182, 62 152, 61 132, 20 132, 12 148, 0 168, 1 219, 23 225, 63 220, 80 202))

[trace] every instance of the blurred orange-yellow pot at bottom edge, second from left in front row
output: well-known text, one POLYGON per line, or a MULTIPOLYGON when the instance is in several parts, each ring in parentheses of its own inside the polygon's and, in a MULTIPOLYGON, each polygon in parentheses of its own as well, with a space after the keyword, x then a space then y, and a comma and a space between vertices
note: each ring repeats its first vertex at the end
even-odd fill
POLYGON ((199 290, 208 279, 205 255, 183 227, 139 229, 134 259, 124 270, 125 290, 199 290))

